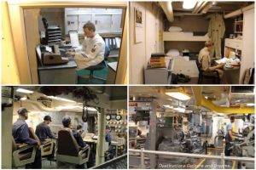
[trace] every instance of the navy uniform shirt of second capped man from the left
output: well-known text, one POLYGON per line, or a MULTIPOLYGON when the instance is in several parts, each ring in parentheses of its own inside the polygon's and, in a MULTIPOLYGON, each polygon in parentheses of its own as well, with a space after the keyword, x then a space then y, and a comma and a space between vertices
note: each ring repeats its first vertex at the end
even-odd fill
POLYGON ((55 135, 51 133, 49 126, 44 122, 38 124, 36 127, 36 134, 40 141, 44 141, 47 138, 55 139, 55 135))

